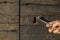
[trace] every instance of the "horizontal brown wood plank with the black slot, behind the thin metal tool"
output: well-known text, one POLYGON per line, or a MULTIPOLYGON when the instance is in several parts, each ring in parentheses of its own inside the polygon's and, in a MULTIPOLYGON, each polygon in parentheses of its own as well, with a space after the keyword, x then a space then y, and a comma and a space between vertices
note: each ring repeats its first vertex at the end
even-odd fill
MULTIPOLYGON (((37 16, 41 16, 41 15, 37 15, 37 16)), ((36 23, 33 23, 34 17, 35 16, 31 16, 31 15, 30 16, 29 15, 28 16, 21 16, 20 17, 21 25, 44 25, 45 26, 45 24, 38 19, 36 19, 36 23)), ((48 15, 48 16, 43 15, 43 17, 45 19, 47 19, 48 21, 60 20, 60 15, 48 15)))

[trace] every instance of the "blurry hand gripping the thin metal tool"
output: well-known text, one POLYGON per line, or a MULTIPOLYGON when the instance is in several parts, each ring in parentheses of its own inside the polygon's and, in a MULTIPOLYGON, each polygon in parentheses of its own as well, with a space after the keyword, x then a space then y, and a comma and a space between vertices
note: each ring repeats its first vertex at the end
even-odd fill
POLYGON ((60 34, 60 22, 59 21, 52 21, 46 24, 46 27, 48 27, 48 31, 55 34, 60 34), (51 26, 49 27, 50 24, 51 26))

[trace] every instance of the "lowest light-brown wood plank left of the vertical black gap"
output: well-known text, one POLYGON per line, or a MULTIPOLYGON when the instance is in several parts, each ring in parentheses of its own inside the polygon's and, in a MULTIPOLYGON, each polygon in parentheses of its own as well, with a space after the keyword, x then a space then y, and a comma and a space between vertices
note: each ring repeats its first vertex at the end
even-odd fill
POLYGON ((16 32, 0 32, 0 40, 19 40, 16 32))

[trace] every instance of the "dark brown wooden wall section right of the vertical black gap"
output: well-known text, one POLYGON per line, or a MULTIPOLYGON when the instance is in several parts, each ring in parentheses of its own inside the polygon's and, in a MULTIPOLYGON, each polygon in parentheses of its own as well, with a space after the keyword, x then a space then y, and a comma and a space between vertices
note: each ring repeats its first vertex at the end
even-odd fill
POLYGON ((35 16, 60 20, 60 0, 21 0, 20 16, 21 40, 60 40, 60 35, 49 33, 44 23, 32 22, 35 16))

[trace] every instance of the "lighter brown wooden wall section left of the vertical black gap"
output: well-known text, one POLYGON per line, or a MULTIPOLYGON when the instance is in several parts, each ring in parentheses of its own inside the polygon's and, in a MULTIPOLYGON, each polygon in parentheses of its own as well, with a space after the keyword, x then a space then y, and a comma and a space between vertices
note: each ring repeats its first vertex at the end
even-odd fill
POLYGON ((19 40, 18 0, 0 0, 0 40, 19 40))

